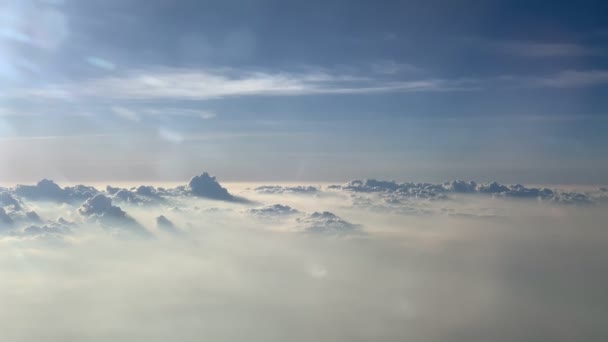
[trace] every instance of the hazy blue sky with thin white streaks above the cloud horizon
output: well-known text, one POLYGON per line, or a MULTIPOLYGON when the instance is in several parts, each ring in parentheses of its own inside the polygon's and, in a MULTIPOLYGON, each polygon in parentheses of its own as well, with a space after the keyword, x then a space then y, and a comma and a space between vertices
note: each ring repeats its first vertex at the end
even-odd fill
POLYGON ((4 1, 4 182, 608 183, 597 1, 4 1))

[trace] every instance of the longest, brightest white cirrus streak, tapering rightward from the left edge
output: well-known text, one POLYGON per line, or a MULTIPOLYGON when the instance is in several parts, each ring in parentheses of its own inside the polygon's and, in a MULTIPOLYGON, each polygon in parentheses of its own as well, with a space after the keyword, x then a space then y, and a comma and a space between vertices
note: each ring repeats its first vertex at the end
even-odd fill
POLYGON ((235 96, 299 96, 469 90, 469 80, 375 79, 327 72, 235 72, 161 69, 128 72, 72 83, 22 88, 4 97, 72 100, 207 100, 235 96))

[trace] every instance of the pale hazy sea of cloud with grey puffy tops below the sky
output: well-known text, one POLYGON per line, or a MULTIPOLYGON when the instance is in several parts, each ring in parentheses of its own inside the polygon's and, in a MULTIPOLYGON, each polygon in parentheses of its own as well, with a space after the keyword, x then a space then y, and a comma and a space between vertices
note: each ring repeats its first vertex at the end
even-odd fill
POLYGON ((2 341, 608 337, 608 191, 0 189, 2 341))

